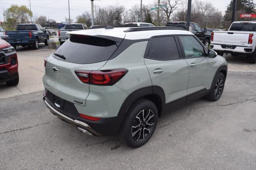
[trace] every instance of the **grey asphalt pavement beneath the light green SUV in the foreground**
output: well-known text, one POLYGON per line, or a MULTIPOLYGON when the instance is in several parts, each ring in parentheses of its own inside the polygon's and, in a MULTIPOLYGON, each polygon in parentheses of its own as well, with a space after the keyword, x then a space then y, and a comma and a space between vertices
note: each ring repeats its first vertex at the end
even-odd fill
POLYGON ((160 117, 148 143, 92 137, 44 106, 42 92, 0 99, 1 169, 255 169, 256 73, 229 72, 217 102, 160 117))

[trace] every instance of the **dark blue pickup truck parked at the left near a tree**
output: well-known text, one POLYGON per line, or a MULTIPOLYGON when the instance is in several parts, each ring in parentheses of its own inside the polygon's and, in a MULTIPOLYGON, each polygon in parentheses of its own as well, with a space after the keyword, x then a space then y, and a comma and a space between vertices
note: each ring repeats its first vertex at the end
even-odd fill
POLYGON ((9 35, 8 43, 15 49, 19 45, 38 49, 38 43, 48 45, 49 42, 49 33, 39 24, 18 24, 16 31, 6 31, 6 34, 9 35))

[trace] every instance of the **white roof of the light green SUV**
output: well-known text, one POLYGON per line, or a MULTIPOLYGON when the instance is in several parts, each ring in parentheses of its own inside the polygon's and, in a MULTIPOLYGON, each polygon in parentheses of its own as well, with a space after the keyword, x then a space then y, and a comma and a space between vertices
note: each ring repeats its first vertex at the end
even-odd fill
POLYGON ((125 38, 125 39, 131 39, 131 40, 149 39, 150 37, 157 36, 157 35, 177 35, 177 34, 193 35, 193 33, 189 31, 178 30, 178 29, 173 29, 173 30, 160 29, 160 30, 124 32, 129 28, 130 27, 115 27, 112 29, 105 29, 105 28, 85 29, 85 30, 79 30, 79 31, 70 31, 68 32, 68 34, 89 35, 89 36, 104 35, 104 36, 125 38))

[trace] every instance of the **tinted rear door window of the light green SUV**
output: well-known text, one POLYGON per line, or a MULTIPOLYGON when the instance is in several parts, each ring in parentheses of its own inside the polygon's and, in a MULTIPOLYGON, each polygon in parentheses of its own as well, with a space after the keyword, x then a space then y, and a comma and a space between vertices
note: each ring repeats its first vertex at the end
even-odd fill
POLYGON ((154 37, 150 39, 146 58, 154 60, 173 60, 179 58, 174 37, 154 37))

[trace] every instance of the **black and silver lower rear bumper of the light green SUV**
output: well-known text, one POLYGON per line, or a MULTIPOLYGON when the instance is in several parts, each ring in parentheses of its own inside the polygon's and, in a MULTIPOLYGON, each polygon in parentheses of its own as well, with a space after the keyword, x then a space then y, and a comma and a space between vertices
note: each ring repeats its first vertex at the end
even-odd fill
POLYGON ((122 122, 119 117, 102 118, 99 121, 90 121, 77 117, 76 115, 70 115, 63 110, 60 110, 54 106, 46 96, 44 96, 43 100, 54 115, 58 116, 58 118, 66 123, 74 125, 80 131, 88 135, 102 136, 118 134, 122 122))

